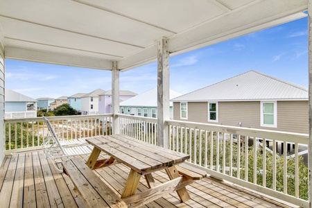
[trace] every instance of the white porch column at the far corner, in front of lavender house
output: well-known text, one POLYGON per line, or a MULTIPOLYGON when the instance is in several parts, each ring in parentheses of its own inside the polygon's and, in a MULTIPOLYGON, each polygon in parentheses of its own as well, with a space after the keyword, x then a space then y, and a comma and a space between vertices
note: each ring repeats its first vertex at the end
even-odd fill
POLYGON ((117 62, 113 62, 112 66, 112 114, 113 114, 113 134, 120 133, 119 117, 119 69, 117 69, 117 62))

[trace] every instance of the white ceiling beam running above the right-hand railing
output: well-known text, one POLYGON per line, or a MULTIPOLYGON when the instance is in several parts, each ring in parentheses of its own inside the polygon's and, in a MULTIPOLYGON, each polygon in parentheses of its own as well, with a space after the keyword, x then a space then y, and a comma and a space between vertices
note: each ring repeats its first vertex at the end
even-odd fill
MULTIPOLYGON (((241 35, 254 33, 272 26, 284 24, 305 17, 302 12, 307 9, 307 0, 258 1, 245 10, 233 10, 227 15, 215 18, 168 38, 168 51, 177 55, 216 44, 241 35), (259 12, 259 8, 266 8, 259 12), (253 17, 253 18, 250 18, 253 17), (254 24, 256 23, 256 24, 254 24)), ((139 67, 157 58, 156 44, 144 50, 122 58, 118 62, 119 69, 125 71, 139 67)))

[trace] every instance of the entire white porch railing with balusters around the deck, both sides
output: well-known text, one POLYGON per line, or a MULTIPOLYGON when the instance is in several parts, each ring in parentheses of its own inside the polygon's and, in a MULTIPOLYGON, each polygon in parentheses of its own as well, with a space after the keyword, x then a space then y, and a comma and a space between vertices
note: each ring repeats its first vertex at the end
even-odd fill
MULTIPOLYGON (((157 119, 118 117, 122 134, 157 144, 157 119)), ((111 134, 111 114, 55 116, 49 120, 63 139, 111 134)), ((189 162, 209 175, 309 207, 308 162, 304 164, 302 157, 309 150, 309 135, 185 121, 166 124, 171 150, 191 155, 189 162)), ((11 132, 6 135, 6 153, 12 153, 40 148, 47 129, 42 118, 8 119, 6 132, 11 132)))

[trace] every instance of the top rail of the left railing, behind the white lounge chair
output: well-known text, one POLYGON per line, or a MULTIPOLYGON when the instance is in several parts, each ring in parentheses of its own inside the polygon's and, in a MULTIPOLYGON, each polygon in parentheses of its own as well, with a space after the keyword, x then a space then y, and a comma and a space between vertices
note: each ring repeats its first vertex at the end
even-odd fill
MULTIPOLYGON (((94 119, 101 117, 112 117, 112 114, 96 114, 96 115, 77 115, 77 116, 49 116, 50 121, 70 120, 70 119, 94 119)), ((26 118, 26 119, 4 119, 5 123, 32 122, 43 121, 42 117, 26 118)))

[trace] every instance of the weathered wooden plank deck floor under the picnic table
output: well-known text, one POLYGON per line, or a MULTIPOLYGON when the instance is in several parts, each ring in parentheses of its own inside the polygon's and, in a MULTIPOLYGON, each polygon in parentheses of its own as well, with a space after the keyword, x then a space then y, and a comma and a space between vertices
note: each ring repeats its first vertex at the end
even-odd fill
MULTIPOLYGON (((128 167, 116 164, 100 168, 96 173, 120 194, 129 171, 128 167)), ((157 182, 168 180, 164 172, 153 175, 157 182)), ((0 186, 0 207, 85 207, 69 177, 55 171, 43 151, 6 157, 0 168, 0 186)), ((147 189, 144 177, 141 177, 138 189, 147 189)), ((180 202, 177 193, 172 193, 144 207, 295 207, 212 177, 187 189, 191 200, 185 203, 180 202)))

